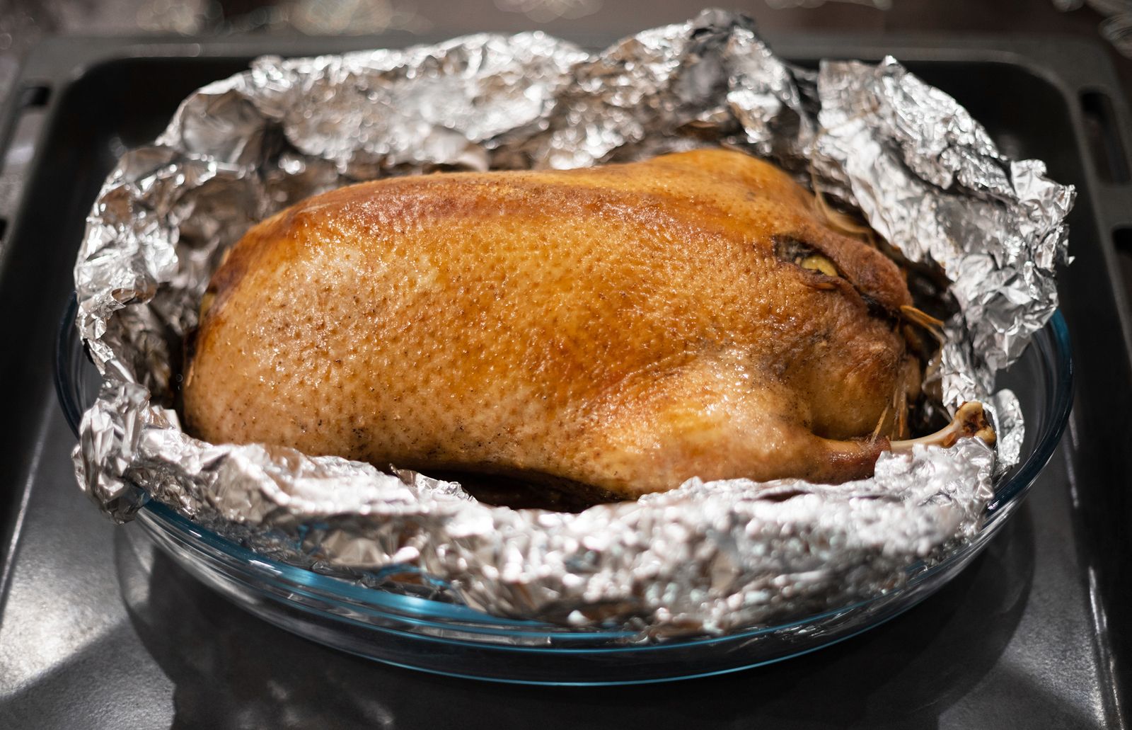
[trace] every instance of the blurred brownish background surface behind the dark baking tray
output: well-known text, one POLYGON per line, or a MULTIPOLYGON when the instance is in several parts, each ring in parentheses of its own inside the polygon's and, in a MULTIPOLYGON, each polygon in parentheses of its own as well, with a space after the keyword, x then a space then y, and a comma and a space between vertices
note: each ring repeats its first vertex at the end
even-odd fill
MULTIPOLYGON (((458 35, 542 29, 581 39, 739 9, 771 40, 807 31, 852 34, 1057 33, 1105 42, 1132 90, 1132 0, 0 0, 0 100, 43 35, 458 35), (1125 32, 1125 26, 1130 31, 1125 32)), ((31 124, 25 125, 31 126, 31 124)), ((14 211, 33 135, 17 130, 0 173, 0 215, 14 211)))

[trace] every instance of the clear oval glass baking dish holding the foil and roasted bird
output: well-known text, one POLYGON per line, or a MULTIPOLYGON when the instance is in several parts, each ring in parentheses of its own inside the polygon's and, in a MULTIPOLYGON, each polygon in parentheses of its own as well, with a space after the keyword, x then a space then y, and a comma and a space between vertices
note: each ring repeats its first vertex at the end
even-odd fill
MULTIPOLYGON (((59 330, 55 387, 75 433, 100 376, 75 328, 74 297, 59 330)), ((620 630, 505 619, 471 608, 370 588, 257 554, 147 502, 136 521, 185 569, 251 613, 345 652, 412 669, 535 685, 625 685, 738 671, 813 652, 878 626, 937 591, 974 559, 1049 461, 1072 405, 1069 332, 1061 313, 1000 374, 1022 405, 1022 460, 996 484, 978 536, 933 566, 908 567, 886 594, 816 616, 724 636, 641 639, 620 630)), ((429 580, 428 576, 422 576, 429 580)))

